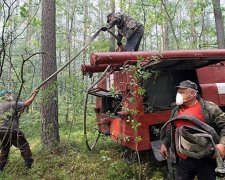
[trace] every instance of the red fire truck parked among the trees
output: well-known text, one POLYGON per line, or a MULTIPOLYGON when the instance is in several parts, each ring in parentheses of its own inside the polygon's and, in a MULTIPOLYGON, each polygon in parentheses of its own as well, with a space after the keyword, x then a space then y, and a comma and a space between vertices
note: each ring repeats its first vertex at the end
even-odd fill
MULTIPOLYGON (((109 135, 130 150, 153 149, 157 159, 160 128, 170 117, 176 95, 174 86, 179 82, 195 82, 203 99, 225 111, 225 50, 92 53, 90 64, 82 65, 82 71, 102 72, 87 92, 87 97, 96 96, 99 134, 109 135), (135 79, 137 72, 143 76, 139 82, 135 79)), ((86 135, 85 125, 86 115, 86 135)), ((93 146, 86 140, 89 149, 97 139, 93 146)))

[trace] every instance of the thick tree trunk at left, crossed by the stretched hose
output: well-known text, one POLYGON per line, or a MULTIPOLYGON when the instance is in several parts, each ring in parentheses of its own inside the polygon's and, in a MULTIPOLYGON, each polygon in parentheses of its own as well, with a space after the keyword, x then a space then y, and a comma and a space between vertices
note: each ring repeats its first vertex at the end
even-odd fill
MULTIPOLYGON (((57 70, 56 63, 56 32, 55 32, 55 0, 42 1, 42 80, 45 80, 57 70)), ((57 76, 54 76, 43 86, 41 105, 42 143, 53 149, 59 143, 58 125, 58 93, 57 76)))

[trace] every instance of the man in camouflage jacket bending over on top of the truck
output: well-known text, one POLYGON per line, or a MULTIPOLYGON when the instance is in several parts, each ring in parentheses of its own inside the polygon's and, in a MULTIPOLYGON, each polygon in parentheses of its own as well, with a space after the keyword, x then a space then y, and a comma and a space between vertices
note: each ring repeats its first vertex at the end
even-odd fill
POLYGON ((101 30, 106 31, 116 25, 118 28, 117 45, 119 47, 122 46, 122 38, 126 37, 125 50, 138 51, 144 33, 144 27, 140 22, 134 20, 129 15, 117 12, 108 14, 107 23, 108 25, 102 27, 101 30))

